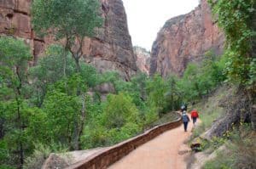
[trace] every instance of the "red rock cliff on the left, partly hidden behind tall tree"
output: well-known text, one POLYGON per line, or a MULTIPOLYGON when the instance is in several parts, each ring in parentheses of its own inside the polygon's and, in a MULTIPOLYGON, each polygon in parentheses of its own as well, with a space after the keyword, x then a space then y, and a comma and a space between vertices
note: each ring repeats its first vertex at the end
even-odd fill
MULTIPOLYGON (((50 38, 41 40, 32 31, 31 0, 0 0, 0 34, 24 38, 30 44, 34 62, 53 42, 50 38)), ((118 70, 125 79, 137 70, 136 56, 133 53, 125 8, 121 0, 101 0, 103 27, 95 38, 85 38, 84 60, 100 71, 118 70)))

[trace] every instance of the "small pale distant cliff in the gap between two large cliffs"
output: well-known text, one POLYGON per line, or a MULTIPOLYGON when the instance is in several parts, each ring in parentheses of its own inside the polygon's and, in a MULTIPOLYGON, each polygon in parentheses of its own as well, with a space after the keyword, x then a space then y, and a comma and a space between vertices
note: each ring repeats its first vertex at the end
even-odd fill
POLYGON ((148 75, 150 66, 150 52, 141 47, 134 47, 133 50, 137 58, 136 65, 138 70, 148 75))

